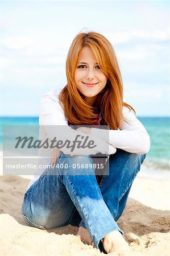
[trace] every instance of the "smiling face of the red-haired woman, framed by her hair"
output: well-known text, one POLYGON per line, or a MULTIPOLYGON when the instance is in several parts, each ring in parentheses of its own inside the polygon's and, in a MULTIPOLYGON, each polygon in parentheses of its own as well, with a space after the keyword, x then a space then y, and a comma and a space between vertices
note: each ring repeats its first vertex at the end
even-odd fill
POLYGON ((99 68, 96 57, 89 47, 82 48, 74 72, 77 89, 84 100, 92 105, 96 96, 106 86, 107 78, 99 68))

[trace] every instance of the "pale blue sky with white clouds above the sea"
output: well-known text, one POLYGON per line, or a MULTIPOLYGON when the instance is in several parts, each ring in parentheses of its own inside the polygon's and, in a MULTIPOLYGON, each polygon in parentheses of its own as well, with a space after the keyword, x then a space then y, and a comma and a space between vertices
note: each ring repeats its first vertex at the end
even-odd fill
POLYGON ((3 116, 38 116, 43 94, 67 84, 65 61, 78 32, 114 47, 123 100, 138 117, 169 115, 168 1, 1 1, 3 116))

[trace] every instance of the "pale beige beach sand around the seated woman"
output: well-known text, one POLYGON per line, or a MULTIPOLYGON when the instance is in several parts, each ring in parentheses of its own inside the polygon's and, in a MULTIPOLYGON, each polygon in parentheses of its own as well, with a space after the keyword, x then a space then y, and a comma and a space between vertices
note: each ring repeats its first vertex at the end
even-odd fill
MULTIPOLYGON (((29 181, 20 176, 0 176, 0 255, 104 255, 76 237, 76 226, 51 230, 27 226, 20 209, 29 181)), ((136 177, 118 220, 130 251, 109 255, 168 256, 169 223, 168 180, 136 177)))

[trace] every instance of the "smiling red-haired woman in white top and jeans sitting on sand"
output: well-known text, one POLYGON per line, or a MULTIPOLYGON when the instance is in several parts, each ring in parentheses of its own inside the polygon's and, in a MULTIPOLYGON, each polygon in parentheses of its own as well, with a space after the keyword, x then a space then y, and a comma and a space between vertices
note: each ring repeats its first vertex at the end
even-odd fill
POLYGON ((46 168, 36 176, 24 195, 22 214, 28 225, 40 229, 75 225, 82 241, 93 241, 105 253, 125 250, 127 242, 116 221, 150 150, 150 137, 135 110, 123 102, 117 58, 104 36, 78 34, 68 52, 66 73, 67 85, 61 92, 52 90, 42 98, 40 127, 50 138, 88 134, 97 147, 85 154, 80 148, 74 152, 70 148, 54 150, 51 163, 67 164, 68 168, 46 168), (53 125, 65 127, 66 132, 51 133, 48 127, 53 125), (109 130, 96 125, 106 125, 109 130), (92 155, 99 152, 109 155, 100 176, 96 166, 90 168, 95 163, 92 155), (77 175, 71 175, 75 163, 77 175))

